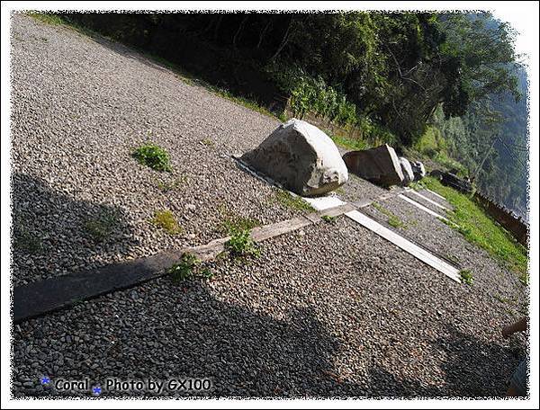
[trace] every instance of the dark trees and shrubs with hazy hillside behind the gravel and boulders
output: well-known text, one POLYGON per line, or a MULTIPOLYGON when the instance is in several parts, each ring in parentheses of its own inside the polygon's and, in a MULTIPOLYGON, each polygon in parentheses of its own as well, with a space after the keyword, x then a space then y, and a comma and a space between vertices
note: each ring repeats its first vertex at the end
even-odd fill
POLYGON ((388 142, 474 176, 483 193, 527 214, 527 75, 514 31, 489 13, 62 17, 280 118, 315 115, 358 146, 388 142))

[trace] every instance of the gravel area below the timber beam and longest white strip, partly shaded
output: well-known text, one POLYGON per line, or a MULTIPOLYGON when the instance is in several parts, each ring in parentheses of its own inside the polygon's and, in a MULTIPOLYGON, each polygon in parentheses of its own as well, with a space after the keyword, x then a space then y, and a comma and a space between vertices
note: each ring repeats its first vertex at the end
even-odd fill
POLYGON ((63 394, 47 375, 211 378, 218 396, 500 396, 524 354, 501 340, 512 316, 485 291, 495 275, 455 283, 346 217, 261 247, 211 263, 211 281, 163 278, 15 326, 14 394, 63 394))

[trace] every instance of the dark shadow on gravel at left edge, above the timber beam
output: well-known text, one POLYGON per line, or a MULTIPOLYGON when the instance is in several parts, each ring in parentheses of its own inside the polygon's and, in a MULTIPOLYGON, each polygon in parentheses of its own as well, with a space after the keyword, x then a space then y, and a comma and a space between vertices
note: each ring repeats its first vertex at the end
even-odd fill
POLYGON ((74 201, 28 174, 12 174, 11 183, 14 285, 108 262, 138 245, 118 207, 74 201))

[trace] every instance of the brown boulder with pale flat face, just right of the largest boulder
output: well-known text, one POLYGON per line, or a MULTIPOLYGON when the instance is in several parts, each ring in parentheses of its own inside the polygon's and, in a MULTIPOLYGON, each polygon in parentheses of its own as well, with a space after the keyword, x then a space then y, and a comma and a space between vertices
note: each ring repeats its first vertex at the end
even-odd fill
POLYGON ((387 144, 362 151, 349 151, 343 160, 350 173, 378 185, 401 185, 405 179, 400 159, 387 144))

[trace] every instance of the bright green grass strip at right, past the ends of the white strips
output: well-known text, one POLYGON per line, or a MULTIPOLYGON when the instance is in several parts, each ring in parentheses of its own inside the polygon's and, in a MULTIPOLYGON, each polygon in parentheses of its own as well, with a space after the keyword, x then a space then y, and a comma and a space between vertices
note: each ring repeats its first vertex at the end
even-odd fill
POLYGON ((490 218, 472 197, 447 187, 433 177, 425 177, 421 184, 437 192, 450 202, 455 210, 448 212, 450 226, 454 227, 472 244, 485 249, 488 254, 517 272, 523 284, 528 283, 527 248, 518 244, 513 236, 490 218))

